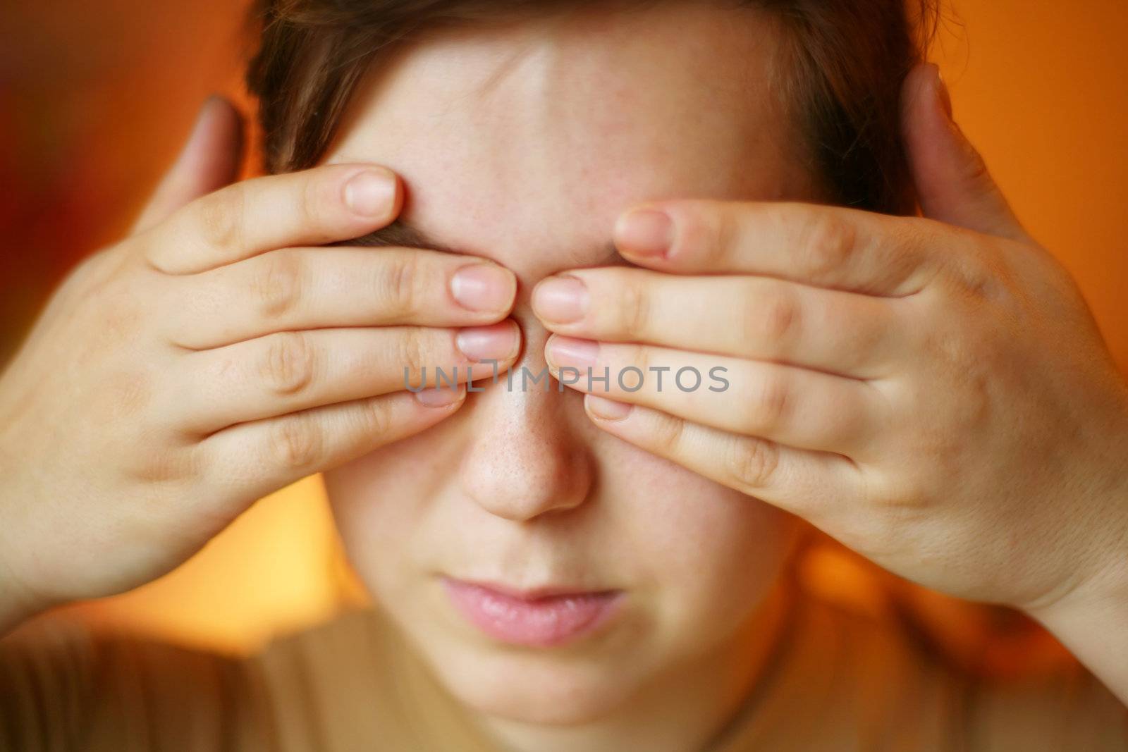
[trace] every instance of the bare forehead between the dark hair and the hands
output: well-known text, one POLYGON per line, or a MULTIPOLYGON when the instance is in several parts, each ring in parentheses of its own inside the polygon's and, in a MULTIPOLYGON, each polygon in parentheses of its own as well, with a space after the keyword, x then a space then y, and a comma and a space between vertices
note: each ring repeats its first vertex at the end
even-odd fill
POLYGON ((369 73, 326 161, 386 165, 405 222, 519 274, 597 263, 636 202, 802 195, 775 34, 697 2, 432 34, 369 73))

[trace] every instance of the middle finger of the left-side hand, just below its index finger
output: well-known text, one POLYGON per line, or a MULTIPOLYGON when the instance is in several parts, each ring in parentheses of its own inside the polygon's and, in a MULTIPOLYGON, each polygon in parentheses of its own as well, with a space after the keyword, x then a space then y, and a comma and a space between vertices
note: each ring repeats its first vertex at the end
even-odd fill
POLYGON ((164 330, 191 350, 294 329, 493 324, 517 295, 493 262, 414 248, 285 248, 170 282, 164 330))

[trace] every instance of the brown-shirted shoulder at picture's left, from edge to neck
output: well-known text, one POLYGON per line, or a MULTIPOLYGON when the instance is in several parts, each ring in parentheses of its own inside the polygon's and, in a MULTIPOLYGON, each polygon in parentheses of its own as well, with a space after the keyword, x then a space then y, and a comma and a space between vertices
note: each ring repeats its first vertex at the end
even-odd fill
POLYGON ((247 657, 63 619, 0 640, 0 752, 153 749, 491 747, 374 610, 280 636, 247 657))

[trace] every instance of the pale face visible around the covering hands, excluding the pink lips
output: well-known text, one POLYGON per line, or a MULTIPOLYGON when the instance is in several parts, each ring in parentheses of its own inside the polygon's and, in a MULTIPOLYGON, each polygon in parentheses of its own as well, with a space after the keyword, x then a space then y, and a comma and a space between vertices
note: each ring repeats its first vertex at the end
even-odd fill
MULTIPOLYGON (((768 83, 774 34, 689 2, 444 32, 369 78, 326 161, 390 167, 404 222, 511 268, 515 368, 539 373, 532 286, 625 263, 608 242, 632 203, 811 195, 768 83)), ((733 648, 795 521, 601 433, 555 382, 483 386, 450 419, 326 474, 360 576, 455 695, 580 722, 733 648), (594 629, 527 644, 475 626, 443 577, 619 595, 594 629)))

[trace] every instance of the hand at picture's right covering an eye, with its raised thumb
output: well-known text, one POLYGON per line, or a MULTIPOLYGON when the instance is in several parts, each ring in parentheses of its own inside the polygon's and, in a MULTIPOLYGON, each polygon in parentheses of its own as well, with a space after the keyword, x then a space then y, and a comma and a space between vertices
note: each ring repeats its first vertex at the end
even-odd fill
POLYGON ((935 68, 905 91, 925 218, 646 204, 616 244, 647 268, 536 289, 546 359, 608 433, 909 580, 1037 613, 1128 580, 1128 387, 935 68))

